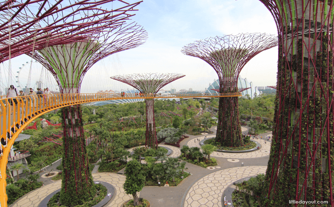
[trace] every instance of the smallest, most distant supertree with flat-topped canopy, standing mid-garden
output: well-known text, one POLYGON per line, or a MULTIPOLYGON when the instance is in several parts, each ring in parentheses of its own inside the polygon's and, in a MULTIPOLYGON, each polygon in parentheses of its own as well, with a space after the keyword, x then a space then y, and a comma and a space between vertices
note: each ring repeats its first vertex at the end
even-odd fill
MULTIPOLYGON (((138 89, 143 94, 156 94, 161 88, 174 80, 184 77, 175 73, 144 73, 117 75, 110 77, 138 89)), ((146 142, 145 146, 158 148, 156 123, 154 118, 154 95, 146 99, 146 142)))

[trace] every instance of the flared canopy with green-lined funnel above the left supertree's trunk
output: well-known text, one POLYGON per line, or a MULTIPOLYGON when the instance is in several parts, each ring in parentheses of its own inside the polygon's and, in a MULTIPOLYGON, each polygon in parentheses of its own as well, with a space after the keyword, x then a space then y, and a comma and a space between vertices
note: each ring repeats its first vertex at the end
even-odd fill
POLYGON ((87 40, 46 47, 28 55, 52 73, 62 93, 79 93, 82 79, 93 64, 116 52, 138 47, 147 39, 147 31, 140 25, 125 24, 127 18, 101 21, 105 24, 96 26, 96 36, 87 40))

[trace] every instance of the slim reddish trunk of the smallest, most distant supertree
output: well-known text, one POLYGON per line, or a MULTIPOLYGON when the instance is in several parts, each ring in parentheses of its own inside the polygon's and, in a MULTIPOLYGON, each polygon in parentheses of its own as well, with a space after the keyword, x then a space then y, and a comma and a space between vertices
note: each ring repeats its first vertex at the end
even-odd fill
POLYGON ((146 142, 145 145, 158 148, 156 122, 154 119, 154 99, 146 99, 146 142))

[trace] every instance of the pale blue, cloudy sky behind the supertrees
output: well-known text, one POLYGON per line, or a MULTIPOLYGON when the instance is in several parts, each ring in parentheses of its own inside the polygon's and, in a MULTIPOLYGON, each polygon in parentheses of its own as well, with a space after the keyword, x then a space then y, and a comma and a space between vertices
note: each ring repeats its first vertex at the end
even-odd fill
MULTIPOLYGON (((129 3, 137 1, 127 0, 129 3)), ((261 32, 277 35, 272 15, 259 0, 144 0, 136 8, 139 10, 132 21, 148 31, 146 43, 96 63, 83 79, 82 93, 131 89, 110 77, 132 73, 181 73, 185 77, 163 89, 203 91, 218 76, 205 61, 182 54, 183 46, 229 34, 261 32)), ((278 47, 263 51, 245 65, 240 76, 252 81, 254 86, 276 85, 277 58, 278 47)), ((25 55, 13 58, 13 73, 17 74, 18 67, 30 60, 25 55)), ((22 71, 20 80, 26 74, 22 71)), ((2 85, 6 84, 2 82, 2 85)))

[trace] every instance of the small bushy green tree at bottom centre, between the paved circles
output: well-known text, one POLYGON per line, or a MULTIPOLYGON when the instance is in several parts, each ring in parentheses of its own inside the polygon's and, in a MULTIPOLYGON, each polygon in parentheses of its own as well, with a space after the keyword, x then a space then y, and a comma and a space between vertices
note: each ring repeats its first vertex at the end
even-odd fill
POLYGON ((137 192, 140 192, 145 186, 144 171, 136 160, 128 162, 125 168, 125 175, 127 176, 123 189, 126 194, 132 194, 134 197, 134 206, 139 205, 139 198, 137 192))

